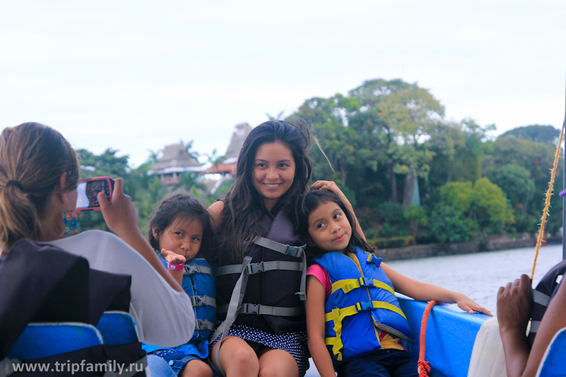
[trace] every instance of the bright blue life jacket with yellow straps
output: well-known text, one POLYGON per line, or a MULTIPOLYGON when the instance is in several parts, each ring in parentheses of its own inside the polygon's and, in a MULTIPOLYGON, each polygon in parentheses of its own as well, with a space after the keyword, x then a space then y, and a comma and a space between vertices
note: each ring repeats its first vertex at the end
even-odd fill
POLYGON ((325 344, 334 364, 381 348, 377 328, 410 340, 410 327, 379 268, 382 258, 352 247, 352 258, 326 253, 315 260, 328 272, 332 292, 325 303, 325 344))

